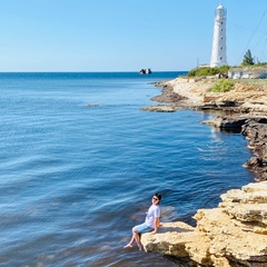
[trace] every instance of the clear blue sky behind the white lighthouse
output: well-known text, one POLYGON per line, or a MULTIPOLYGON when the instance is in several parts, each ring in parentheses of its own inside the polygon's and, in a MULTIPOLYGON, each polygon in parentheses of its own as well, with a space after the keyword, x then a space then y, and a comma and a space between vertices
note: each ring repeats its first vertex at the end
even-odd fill
POLYGON ((227 8, 227 57, 267 61, 266 0, 0 0, 0 71, 190 70, 209 63, 227 8))

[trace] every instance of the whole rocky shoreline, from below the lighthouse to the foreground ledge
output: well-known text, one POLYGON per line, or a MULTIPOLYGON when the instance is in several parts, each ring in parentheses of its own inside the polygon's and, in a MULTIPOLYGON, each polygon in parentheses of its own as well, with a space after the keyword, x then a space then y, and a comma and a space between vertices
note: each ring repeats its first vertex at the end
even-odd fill
POLYGON ((220 111, 211 127, 241 132, 254 154, 246 167, 256 181, 221 195, 214 209, 198 210, 196 227, 165 222, 156 235, 141 237, 148 253, 171 257, 177 266, 264 267, 267 266, 267 81, 239 80, 231 91, 211 92, 216 78, 156 82, 162 93, 151 100, 160 105, 148 111, 179 109, 220 111))

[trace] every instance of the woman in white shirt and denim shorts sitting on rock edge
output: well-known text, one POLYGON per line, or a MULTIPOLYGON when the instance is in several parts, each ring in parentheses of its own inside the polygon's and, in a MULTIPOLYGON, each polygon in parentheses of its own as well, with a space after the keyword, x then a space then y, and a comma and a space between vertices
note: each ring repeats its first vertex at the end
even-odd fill
POLYGON ((140 241, 140 234, 144 233, 151 233, 156 234, 159 228, 159 217, 160 217, 160 207, 159 202, 161 200, 161 196, 159 194, 155 194, 152 196, 151 202, 152 205, 147 211, 147 217, 144 224, 135 226, 132 228, 132 237, 129 244, 125 246, 125 248, 132 247, 134 243, 137 243, 139 250, 142 249, 141 241, 140 241))

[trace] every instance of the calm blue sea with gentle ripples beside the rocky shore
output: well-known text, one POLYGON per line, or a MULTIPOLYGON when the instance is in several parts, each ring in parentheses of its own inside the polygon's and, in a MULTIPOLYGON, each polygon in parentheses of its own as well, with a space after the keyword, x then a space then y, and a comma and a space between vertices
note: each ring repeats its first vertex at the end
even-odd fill
POLYGON ((215 115, 140 110, 179 75, 0 73, 1 266, 174 266, 122 248, 151 195, 192 222, 254 179, 247 140, 201 123, 215 115))

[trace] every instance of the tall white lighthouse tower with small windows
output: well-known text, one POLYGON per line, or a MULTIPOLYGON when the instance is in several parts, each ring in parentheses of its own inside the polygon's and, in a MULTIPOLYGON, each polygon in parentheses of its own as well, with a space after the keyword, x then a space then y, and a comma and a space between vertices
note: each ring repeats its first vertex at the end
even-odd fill
POLYGON ((216 9, 214 26, 214 42, 210 67, 227 65, 226 58, 226 9, 220 3, 216 9))

